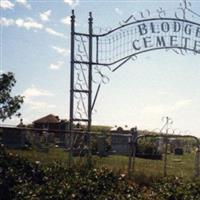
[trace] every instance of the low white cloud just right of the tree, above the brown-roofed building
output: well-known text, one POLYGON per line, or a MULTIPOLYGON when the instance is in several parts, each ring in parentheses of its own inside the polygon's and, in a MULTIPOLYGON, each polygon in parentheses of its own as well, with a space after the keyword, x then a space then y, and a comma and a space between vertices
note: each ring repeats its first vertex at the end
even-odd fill
POLYGON ((22 93, 22 96, 25 96, 26 99, 30 99, 32 97, 39 97, 39 96, 53 96, 53 93, 47 90, 37 88, 34 85, 32 85, 30 88, 27 88, 22 93))

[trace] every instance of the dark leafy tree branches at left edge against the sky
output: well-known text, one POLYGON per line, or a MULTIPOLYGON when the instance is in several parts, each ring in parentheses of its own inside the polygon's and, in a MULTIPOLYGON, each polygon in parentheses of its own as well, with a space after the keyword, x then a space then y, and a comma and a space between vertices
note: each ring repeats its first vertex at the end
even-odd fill
POLYGON ((23 103, 23 96, 11 96, 12 88, 16 83, 12 72, 0 75, 0 120, 4 121, 7 118, 20 116, 18 110, 23 103))

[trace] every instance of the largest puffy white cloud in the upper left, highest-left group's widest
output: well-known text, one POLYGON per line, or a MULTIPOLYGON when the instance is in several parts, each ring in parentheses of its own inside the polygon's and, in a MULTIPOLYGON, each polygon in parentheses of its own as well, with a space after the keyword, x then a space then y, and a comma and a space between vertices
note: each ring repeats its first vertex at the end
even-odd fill
POLYGON ((26 19, 16 19, 15 21, 16 25, 18 27, 23 27, 27 30, 29 29, 42 29, 43 28, 43 25, 36 22, 35 20, 33 20, 32 18, 28 17, 26 19))

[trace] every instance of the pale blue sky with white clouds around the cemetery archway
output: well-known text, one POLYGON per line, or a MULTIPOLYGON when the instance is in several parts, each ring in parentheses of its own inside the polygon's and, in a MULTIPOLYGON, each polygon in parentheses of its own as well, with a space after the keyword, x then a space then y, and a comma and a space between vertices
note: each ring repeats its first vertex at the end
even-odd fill
MULTIPOLYGON (((14 93, 25 96, 21 109, 24 123, 50 113, 69 119, 72 9, 76 30, 87 33, 89 11, 95 31, 97 27, 115 28, 132 14, 139 18, 147 9, 156 14, 162 7, 171 15, 180 2, 1 0, 0 70, 15 73, 14 93)), ((200 2, 190 2, 189 9, 200 14, 200 2)), ((177 13, 181 15, 181 10, 177 13)), ((200 23, 200 17, 190 12, 187 18, 200 23)), ((169 116, 177 132, 200 136, 200 55, 152 51, 109 77, 110 82, 100 90, 93 124, 153 130, 162 126, 162 117, 169 116)), ((5 123, 17 124, 19 119, 5 123)))

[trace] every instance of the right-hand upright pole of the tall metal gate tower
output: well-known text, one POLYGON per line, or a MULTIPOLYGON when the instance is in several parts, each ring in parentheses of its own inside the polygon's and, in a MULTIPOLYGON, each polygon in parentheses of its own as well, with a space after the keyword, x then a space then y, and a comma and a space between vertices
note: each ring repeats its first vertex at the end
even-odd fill
POLYGON ((89 13, 89 65, 88 65, 88 132, 91 131, 91 123, 92 123, 92 33, 93 33, 93 18, 92 12, 89 13))

